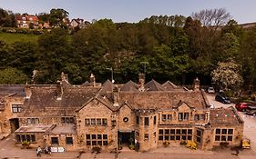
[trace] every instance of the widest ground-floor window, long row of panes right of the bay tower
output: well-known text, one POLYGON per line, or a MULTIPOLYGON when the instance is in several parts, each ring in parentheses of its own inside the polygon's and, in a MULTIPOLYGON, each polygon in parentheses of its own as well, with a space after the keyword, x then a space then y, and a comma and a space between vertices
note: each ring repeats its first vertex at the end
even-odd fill
POLYGON ((192 140, 192 129, 159 129, 159 140, 192 140))

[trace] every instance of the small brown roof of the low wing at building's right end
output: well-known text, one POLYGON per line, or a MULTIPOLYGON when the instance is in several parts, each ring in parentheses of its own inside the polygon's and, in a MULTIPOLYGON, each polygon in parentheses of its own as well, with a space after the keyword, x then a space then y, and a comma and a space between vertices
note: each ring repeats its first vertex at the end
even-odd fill
POLYGON ((210 124, 242 124, 234 107, 210 109, 210 124))

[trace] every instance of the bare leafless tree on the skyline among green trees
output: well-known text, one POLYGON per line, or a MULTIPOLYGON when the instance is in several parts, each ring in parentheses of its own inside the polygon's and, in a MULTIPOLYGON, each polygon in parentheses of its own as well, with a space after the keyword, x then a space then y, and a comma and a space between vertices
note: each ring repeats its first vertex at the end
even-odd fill
POLYGON ((200 20, 200 23, 204 26, 220 26, 225 25, 230 20, 230 13, 225 8, 204 9, 192 13, 192 18, 200 20))

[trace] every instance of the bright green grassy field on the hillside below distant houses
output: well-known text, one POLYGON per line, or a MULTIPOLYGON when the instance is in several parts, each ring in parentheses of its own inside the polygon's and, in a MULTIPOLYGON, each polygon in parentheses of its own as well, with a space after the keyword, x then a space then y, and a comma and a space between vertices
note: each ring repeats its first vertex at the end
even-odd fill
POLYGON ((33 34, 14 34, 0 32, 0 41, 4 41, 6 44, 13 44, 19 41, 36 43, 38 37, 39 35, 33 34))

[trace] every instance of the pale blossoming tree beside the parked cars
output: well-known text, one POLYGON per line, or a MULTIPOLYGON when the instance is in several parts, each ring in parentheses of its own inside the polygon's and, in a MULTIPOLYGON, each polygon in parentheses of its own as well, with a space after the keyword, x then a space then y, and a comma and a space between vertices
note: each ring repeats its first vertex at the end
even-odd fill
POLYGON ((211 73, 212 82, 224 92, 237 93, 243 83, 240 71, 241 65, 237 65, 233 61, 219 63, 211 73))

